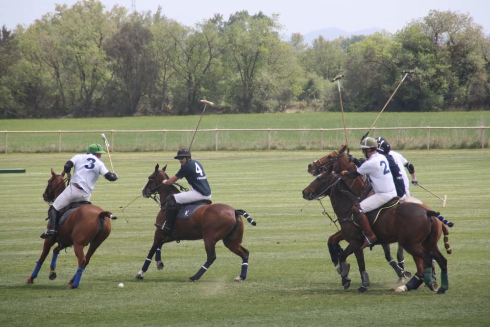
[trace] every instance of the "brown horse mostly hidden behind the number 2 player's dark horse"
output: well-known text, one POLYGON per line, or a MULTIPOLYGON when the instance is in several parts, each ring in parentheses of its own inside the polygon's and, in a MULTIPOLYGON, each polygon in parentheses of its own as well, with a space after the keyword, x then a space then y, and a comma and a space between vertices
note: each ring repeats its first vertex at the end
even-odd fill
MULTIPOLYGON (((355 158, 348 153, 347 151, 347 146, 343 145, 338 151, 332 151, 329 154, 313 161, 308 165, 308 173, 310 173, 313 176, 318 176, 322 171, 329 169, 330 167, 333 167, 333 171, 335 173, 340 173, 343 170, 347 170, 349 172, 353 172, 356 170, 356 165, 353 163, 353 160, 355 158)), ((365 187, 365 182, 362 177, 358 177, 355 179, 350 180, 349 187, 351 188, 352 192, 356 195, 361 195, 362 192, 364 191, 365 187)), ((424 206, 426 209, 430 210, 430 208, 422 204, 421 201, 414 197, 407 197, 407 202, 416 202, 420 203, 422 206, 424 206)), ((444 234, 444 247, 446 248, 447 253, 451 253, 451 249, 448 243, 448 237, 447 235, 449 234, 449 231, 445 225, 443 225, 440 221, 438 221, 438 226, 437 228, 441 228, 442 233, 444 234)), ((440 236, 438 237, 438 239, 440 236)), ((340 255, 340 250, 342 248, 339 245, 339 242, 343 240, 342 233, 340 230, 333 234, 332 236, 329 237, 328 239, 328 247, 330 251, 330 256, 332 258, 332 262, 334 265, 336 265, 337 269, 339 270, 338 266, 338 256, 340 255)), ((403 278, 410 278, 411 273, 408 271, 404 270, 404 256, 403 256, 403 248, 401 246, 398 246, 398 251, 397 251, 397 260, 398 264, 393 260, 391 252, 390 252, 390 245, 389 244, 383 244, 383 251, 385 253, 385 259, 388 261, 390 266, 394 269, 396 272, 397 276, 399 277, 398 282, 402 282, 403 278)), ((417 260, 416 260, 417 263, 417 260)), ((420 269, 423 270, 423 266, 421 261, 417 265, 418 271, 420 273, 420 269)))

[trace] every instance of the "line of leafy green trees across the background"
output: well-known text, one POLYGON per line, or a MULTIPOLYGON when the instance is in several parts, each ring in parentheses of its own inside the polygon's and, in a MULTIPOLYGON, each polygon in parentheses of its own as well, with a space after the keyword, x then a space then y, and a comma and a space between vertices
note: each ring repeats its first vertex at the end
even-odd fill
POLYGON ((236 12, 185 26, 155 13, 110 11, 97 0, 0 38, 0 118, 187 115, 300 107, 379 111, 414 70, 391 111, 490 109, 490 36, 472 17, 431 10, 394 34, 311 45, 283 40, 278 16, 236 12))

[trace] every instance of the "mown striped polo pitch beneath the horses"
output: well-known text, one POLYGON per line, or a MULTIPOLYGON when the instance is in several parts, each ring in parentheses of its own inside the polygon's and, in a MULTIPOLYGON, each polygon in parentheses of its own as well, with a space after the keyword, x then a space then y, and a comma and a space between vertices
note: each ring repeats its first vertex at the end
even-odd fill
MULTIPOLYGON (((0 326, 489 326, 490 150, 403 151, 420 184, 448 197, 441 208, 441 201, 412 187, 415 196, 455 223, 449 235, 453 253, 445 254, 450 286, 445 295, 423 286, 393 293, 396 276, 379 246, 365 251, 368 293, 356 291, 361 279, 353 256, 352 285, 343 290, 326 248, 337 229, 321 215, 318 202, 305 206, 301 198, 312 180, 307 164, 331 150, 194 151, 213 201, 245 209, 258 223, 245 222, 250 266, 241 283, 233 282, 241 259, 221 242, 208 272, 198 282, 186 282, 206 260, 202 241, 165 245, 164 270, 157 271, 153 262, 144 280, 134 278, 151 246, 159 208, 143 198, 124 213, 122 207, 141 194, 156 163, 168 163, 172 173, 178 162, 174 151, 113 153, 120 179, 99 179, 91 200, 119 219, 76 290, 66 289, 76 271, 72 248, 60 254, 56 280, 48 279, 49 255, 34 285, 25 284, 42 250, 39 235, 48 206, 41 194, 49 169, 61 172, 73 153, 1 154, 0 169, 26 173, 0 174, 0 326), (120 282, 124 288, 118 288, 120 282)), ((107 155, 102 159, 109 166, 107 155)), ((332 215, 329 202, 323 204, 332 215)), ((414 272, 408 255, 406 262, 414 272)))

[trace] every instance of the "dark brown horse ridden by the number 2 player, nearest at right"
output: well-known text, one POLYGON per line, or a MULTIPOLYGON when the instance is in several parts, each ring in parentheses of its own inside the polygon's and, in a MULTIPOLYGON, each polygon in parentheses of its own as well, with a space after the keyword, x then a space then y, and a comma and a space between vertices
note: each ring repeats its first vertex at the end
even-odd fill
MULTIPOLYGON (((329 196, 332 207, 339 217, 341 231, 344 239, 349 243, 347 248, 339 257, 341 267, 342 284, 344 288, 350 285, 348 269, 345 259, 351 253, 355 253, 363 281, 359 292, 365 292, 369 286, 369 277, 366 272, 364 254, 360 250, 363 244, 360 228, 352 221, 350 212, 354 203, 359 201, 351 188, 344 181, 343 176, 338 176, 333 172, 333 166, 323 171, 310 185, 303 190, 303 198, 314 200, 320 196, 329 196)), ((408 289, 414 289, 414 285, 421 279, 431 289, 437 289, 437 283, 432 276, 432 258, 434 258, 441 268, 441 288, 438 293, 445 293, 449 288, 447 278, 447 260, 439 251, 437 246, 440 237, 438 230, 438 219, 434 217, 434 211, 427 210, 417 203, 405 202, 382 210, 372 226, 378 240, 376 244, 390 244, 398 242, 407 252, 420 258, 423 261, 423 276, 417 273, 407 284, 408 289), (415 279, 414 279, 415 278, 415 279), (412 287, 409 288, 408 286, 412 287)), ((417 263, 417 261, 416 261, 417 263)), ((417 288, 415 287, 415 288, 417 288)))

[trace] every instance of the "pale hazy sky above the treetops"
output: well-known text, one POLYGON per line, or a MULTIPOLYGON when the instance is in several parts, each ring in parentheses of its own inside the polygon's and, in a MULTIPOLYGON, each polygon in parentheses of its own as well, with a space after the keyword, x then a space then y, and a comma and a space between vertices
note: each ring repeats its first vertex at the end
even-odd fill
MULTIPOLYGON (((134 0, 136 11, 154 13, 158 5, 163 14, 184 25, 194 25, 215 13, 227 20, 230 14, 248 10, 266 15, 279 14, 283 32, 291 34, 337 27, 355 32, 371 27, 392 33, 413 19, 426 16, 431 9, 468 13, 475 23, 490 33, 489 0, 134 0)), ((54 12, 55 3, 73 5, 76 0, 0 0, 0 25, 12 29, 17 24, 30 25, 43 14, 54 12)), ((131 0, 102 0, 106 9, 118 3, 131 9, 131 0)))

